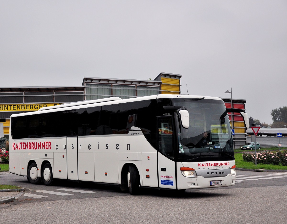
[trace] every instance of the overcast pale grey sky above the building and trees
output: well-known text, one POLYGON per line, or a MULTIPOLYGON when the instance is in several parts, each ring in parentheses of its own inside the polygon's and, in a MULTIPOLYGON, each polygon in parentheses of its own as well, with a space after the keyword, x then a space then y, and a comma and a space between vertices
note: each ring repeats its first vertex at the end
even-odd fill
POLYGON ((287 106, 287 1, 3 1, 0 86, 183 75, 189 94, 287 106))

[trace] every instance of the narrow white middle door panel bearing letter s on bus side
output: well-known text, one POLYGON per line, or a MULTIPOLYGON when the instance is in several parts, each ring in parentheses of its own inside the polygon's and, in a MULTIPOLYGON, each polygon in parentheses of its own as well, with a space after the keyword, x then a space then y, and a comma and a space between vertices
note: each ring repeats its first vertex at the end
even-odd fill
POLYGON ((78 137, 67 137, 68 180, 78 180, 78 137))

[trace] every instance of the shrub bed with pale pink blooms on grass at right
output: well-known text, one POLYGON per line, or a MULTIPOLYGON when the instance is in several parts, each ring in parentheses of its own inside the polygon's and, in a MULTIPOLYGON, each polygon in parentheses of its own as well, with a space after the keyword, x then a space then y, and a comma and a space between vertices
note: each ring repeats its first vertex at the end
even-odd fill
MULTIPOLYGON (((255 153, 253 152, 243 152, 242 158, 246 162, 255 163, 255 153)), ((287 151, 277 151, 273 153, 271 151, 258 152, 256 153, 257 164, 273 164, 279 165, 281 163, 282 166, 287 166, 287 151)))

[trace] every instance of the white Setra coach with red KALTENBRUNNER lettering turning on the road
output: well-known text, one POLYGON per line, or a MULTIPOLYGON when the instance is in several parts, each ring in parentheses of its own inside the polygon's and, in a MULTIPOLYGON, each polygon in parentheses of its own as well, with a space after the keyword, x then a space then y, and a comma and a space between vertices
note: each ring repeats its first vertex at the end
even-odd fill
POLYGON ((245 111, 191 95, 111 97, 14 114, 9 172, 33 184, 92 181, 131 194, 235 185, 228 112, 249 127, 245 111))

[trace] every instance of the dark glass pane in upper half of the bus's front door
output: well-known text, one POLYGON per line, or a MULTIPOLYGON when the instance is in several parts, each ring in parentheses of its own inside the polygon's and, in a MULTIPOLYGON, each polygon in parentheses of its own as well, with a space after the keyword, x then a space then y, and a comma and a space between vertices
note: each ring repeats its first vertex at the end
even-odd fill
POLYGON ((173 129, 172 119, 158 119, 158 150, 170 158, 174 158, 173 153, 173 129))

